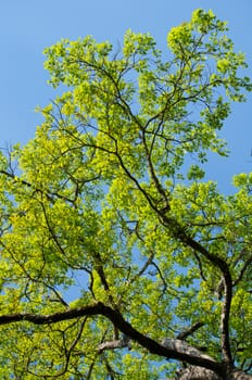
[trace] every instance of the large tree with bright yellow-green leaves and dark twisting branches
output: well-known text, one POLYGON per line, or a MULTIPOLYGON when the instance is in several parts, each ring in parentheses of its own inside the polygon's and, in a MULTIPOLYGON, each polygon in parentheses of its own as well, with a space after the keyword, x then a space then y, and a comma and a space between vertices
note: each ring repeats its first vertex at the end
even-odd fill
POLYGON ((63 92, 1 153, 1 379, 252 378, 252 174, 203 170, 252 89, 226 33, 197 10, 169 60, 130 30, 46 49, 63 92))

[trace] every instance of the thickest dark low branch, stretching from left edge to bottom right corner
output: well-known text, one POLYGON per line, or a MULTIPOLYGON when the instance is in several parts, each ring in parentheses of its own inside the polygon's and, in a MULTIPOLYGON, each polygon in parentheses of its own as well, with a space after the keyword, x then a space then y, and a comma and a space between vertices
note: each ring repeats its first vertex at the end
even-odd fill
MULTIPOLYGON (((211 356, 201 353, 201 351, 182 340, 165 339, 161 343, 154 341, 136 330, 124 319, 123 315, 117 309, 113 309, 101 302, 52 315, 23 313, 2 315, 0 316, 0 325, 22 321, 29 321, 35 325, 51 325, 62 320, 71 320, 94 315, 101 315, 110 319, 114 327, 126 337, 122 341, 116 340, 114 342, 105 342, 101 344, 97 347, 98 352, 129 346, 130 340, 133 340, 154 355, 187 363, 189 366, 178 373, 178 380, 252 380, 252 376, 247 375, 232 366, 227 366, 225 363, 214 360, 211 356)), ((199 326, 201 326, 201 324, 199 324, 199 326)), ((192 330, 194 329, 197 329, 197 327, 192 327, 192 330)), ((185 333, 187 334, 187 332, 185 333)))

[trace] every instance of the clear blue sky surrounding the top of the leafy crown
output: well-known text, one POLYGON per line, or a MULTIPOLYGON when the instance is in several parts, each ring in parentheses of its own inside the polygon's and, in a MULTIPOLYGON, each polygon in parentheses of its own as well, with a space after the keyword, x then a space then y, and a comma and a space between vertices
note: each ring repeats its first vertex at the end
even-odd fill
MULTIPOLYGON (((166 48, 172 26, 190 18, 197 8, 212 9, 228 21, 238 51, 247 54, 252 77, 251 0, 2 0, 0 4, 0 147, 5 142, 25 143, 41 123, 34 112, 54 98, 47 85, 42 50, 61 38, 92 35, 99 41, 122 41, 126 29, 150 31, 160 48, 166 48)), ((229 142, 230 157, 213 157, 207 178, 230 191, 232 174, 250 172, 252 162, 252 97, 232 107, 223 135, 229 142)))

